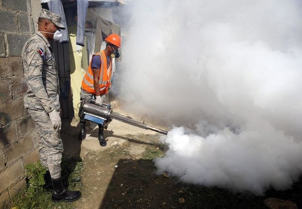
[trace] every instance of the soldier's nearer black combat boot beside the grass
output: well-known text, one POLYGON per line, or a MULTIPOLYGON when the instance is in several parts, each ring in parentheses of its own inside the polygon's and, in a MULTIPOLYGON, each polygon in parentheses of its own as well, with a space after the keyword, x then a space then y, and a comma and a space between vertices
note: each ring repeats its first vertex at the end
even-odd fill
POLYGON ((55 202, 73 202, 81 197, 81 192, 79 191, 69 191, 63 186, 62 177, 57 179, 51 179, 54 186, 54 191, 52 195, 52 199, 55 202))

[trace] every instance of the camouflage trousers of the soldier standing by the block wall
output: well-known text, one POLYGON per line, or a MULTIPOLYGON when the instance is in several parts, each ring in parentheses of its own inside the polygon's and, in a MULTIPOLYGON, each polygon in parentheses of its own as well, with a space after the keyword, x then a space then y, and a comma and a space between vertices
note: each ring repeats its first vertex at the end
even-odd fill
POLYGON ((27 112, 36 123, 41 164, 49 169, 52 178, 59 178, 63 152, 59 132, 53 128, 53 124, 44 110, 27 108, 27 112))

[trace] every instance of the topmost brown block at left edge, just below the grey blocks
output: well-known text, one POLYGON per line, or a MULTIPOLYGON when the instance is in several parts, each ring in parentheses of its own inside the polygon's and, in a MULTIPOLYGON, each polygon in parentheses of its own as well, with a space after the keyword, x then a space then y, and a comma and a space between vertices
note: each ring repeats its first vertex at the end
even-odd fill
POLYGON ((0 78, 22 74, 23 65, 21 57, 0 58, 0 78))

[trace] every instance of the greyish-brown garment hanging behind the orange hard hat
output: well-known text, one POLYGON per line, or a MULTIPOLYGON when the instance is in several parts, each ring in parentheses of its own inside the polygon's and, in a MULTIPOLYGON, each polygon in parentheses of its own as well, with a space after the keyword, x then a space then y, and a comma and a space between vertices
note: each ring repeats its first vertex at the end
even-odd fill
MULTIPOLYGON (((94 52, 99 52, 101 49, 102 42, 110 34, 117 34, 121 36, 121 27, 107 19, 97 16, 95 20, 96 32, 95 32, 95 44, 94 52)), ((120 52, 121 54, 121 52, 120 52)), ((116 61, 121 60, 121 56, 115 59, 116 61)))

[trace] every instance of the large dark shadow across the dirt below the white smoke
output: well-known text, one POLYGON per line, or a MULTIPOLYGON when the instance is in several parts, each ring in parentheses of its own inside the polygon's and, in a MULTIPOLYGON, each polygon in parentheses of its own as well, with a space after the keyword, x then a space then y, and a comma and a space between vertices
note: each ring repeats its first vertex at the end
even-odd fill
POLYGON ((99 209, 265 209, 264 197, 180 183, 151 160, 121 159, 99 209))

